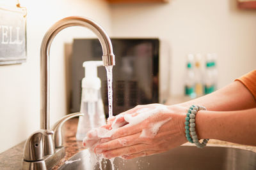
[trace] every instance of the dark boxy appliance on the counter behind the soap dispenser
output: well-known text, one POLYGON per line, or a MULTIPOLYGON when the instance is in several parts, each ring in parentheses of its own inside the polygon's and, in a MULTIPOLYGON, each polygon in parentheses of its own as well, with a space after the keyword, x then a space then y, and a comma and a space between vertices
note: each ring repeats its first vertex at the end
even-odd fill
MULTIPOLYGON (((113 67, 113 115, 138 104, 159 102, 159 39, 111 38, 116 65, 113 67)), ((83 62, 102 60, 98 39, 74 39, 71 57, 70 113, 80 110, 83 62)), ((106 69, 98 67, 104 111, 108 116, 106 69)))

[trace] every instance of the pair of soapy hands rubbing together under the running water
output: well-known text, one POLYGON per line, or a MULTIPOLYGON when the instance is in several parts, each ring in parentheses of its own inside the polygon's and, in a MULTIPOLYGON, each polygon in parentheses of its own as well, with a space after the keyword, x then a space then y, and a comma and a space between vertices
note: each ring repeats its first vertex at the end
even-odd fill
POLYGON ((186 143, 186 111, 180 106, 163 104, 136 106, 108 120, 108 128, 116 123, 124 126, 118 127, 111 138, 102 138, 94 151, 108 159, 133 159, 180 146, 186 143))

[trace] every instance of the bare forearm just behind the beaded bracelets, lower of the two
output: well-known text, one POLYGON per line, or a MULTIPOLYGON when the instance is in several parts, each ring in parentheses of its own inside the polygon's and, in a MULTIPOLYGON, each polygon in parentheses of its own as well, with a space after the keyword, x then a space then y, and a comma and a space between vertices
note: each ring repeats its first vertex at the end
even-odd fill
POLYGON ((198 111, 196 131, 200 139, 220 139, 256 146, 256 108, 240 111, 198 111))

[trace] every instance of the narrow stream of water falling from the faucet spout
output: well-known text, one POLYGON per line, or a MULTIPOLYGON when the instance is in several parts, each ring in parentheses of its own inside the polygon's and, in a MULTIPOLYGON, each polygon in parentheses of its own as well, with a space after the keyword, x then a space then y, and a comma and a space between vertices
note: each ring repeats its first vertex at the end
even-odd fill
POLYGON ((107 78, 108 78, 108 116, 113 117, 113 89, 112 89, 112 74, 113 66, 106 66, 107 78))

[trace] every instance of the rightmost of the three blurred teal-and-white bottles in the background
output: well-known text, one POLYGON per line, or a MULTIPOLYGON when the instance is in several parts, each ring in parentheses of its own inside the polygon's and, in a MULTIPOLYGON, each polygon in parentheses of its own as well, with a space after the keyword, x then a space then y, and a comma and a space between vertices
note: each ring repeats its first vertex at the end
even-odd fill
POLYGON ((205 68, 205 76, 204 76, 204 94, 210 94, 215 90, 214 84, 214 62, 212 62, 212 54, 207 53, 206 55, 206 68, 205 68))

